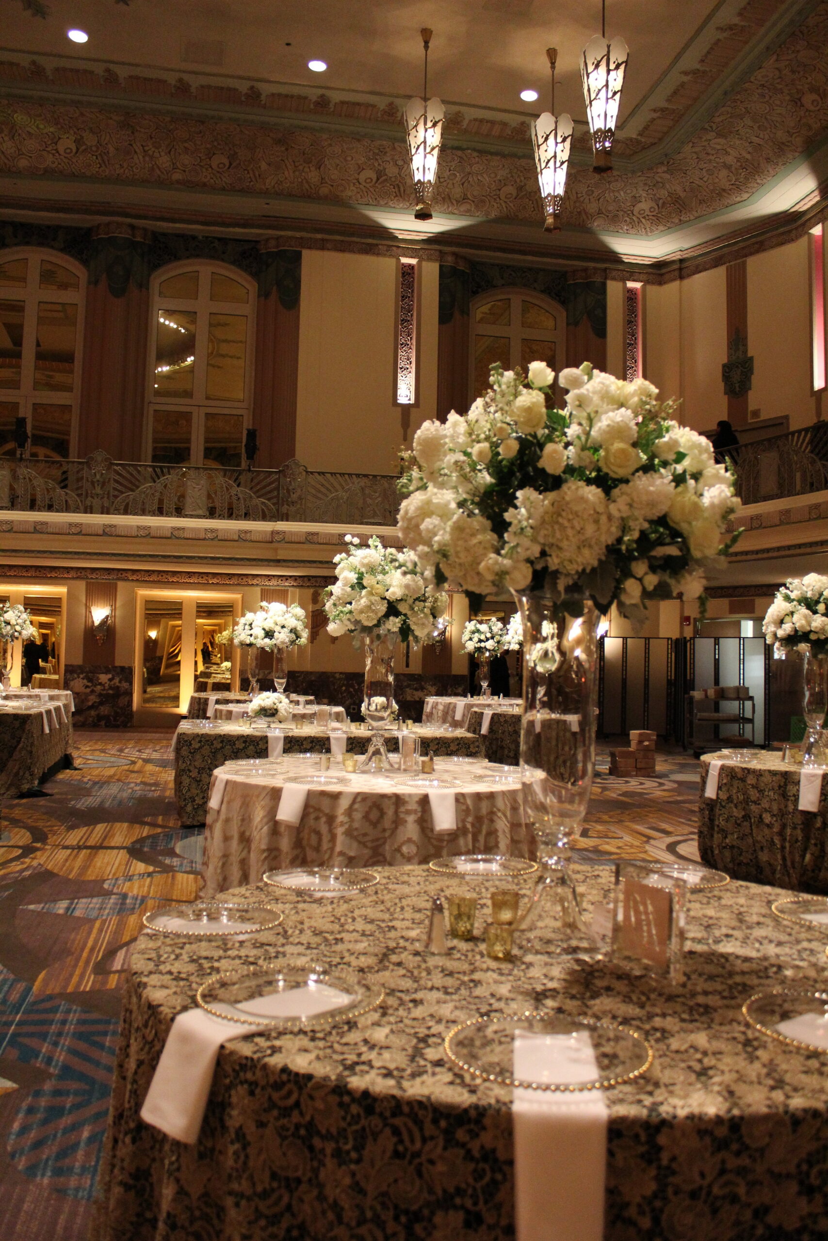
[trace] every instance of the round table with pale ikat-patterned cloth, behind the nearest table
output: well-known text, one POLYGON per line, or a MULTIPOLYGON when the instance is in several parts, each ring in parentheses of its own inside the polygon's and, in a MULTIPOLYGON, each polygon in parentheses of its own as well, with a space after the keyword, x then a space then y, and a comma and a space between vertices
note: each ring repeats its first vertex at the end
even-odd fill
MULTIPOLYGON (((207 808, 201 871, 202 896, 257 882, 268 870, 290 866, 402 866, 453 854, 535 853, 524 824, 520 773, 508 784, 487 784, 488 763, 439 758, 434 774, 456 779, 454 827, 434 818, 426 788, 400 783, 415 772, 344 772, 331 762, 325 774, 340 786, 309 787, 299 823, 279 817, 282 791, 295 779, 323 774, 313 759, 286 757, 273 774, 245 774, 222 767, 221 805, 207 808)), ((439 813, 439 812, 437 812, 439 813)))

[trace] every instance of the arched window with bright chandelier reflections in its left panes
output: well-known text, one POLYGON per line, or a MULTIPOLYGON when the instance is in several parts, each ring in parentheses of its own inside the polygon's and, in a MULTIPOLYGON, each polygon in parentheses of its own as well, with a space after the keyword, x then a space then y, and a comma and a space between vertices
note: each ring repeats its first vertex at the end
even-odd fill
POLYGON ((164 465, 242 464, 253 387, 256 284, 220 263, 153 279, 146 455, 164 465))

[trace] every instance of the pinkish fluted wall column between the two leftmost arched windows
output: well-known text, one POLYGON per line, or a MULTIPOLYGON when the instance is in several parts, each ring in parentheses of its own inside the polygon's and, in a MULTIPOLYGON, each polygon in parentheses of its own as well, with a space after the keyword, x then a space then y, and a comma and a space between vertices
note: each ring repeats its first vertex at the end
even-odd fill
POLYGON ((92 230, 83 331, 78 455, 103 448, 140 460, 146 407, 149 243, 124 223, 92 230))

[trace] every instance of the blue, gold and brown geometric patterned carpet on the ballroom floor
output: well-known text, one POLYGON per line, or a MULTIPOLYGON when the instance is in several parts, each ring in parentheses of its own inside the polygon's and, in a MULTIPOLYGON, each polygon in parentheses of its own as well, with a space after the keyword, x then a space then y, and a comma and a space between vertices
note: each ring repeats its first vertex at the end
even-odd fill
MULTIPOLYGON (((77 732, 74 758, 50 798, 2 804, 2 1241, 86 1241, 130 943, 148 910, 196 895, 169 733, 77 732)), ((578 860, 698 859, 693 758, 659 756, 657 779, 598 768, 578 860)))

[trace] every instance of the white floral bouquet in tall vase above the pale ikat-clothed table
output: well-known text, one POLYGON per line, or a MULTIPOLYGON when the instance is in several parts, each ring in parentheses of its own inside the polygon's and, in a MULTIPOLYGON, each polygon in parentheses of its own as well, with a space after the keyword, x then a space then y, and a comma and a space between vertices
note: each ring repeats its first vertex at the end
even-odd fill
POLYGON ((328 633, 355 640, 367 633, 436 640, 434 622, 448 608, 448 596, 426 583, 412 552, 384 547, 376 536, 366 547, 354 535, 345 535, 345 542, 349 550, 334 557, 336 583, 325 591, 328 633))

